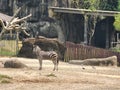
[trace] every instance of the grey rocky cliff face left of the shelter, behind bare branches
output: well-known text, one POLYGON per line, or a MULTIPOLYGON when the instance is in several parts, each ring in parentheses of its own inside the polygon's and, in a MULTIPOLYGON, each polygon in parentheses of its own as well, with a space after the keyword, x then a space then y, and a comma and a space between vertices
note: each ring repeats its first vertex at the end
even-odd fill
MULTIPOLYGON (((58 23, 56 24, 54 19, 48 17, 48 6, 54 4, 52 3, 53 1, 54 0, 0 0, 0 11, 13 16, 17 9, 22 7, 17 15, 18 17, 22 18, 32 14, 32 17, 27 20, 26 24, 30 37, 42 35, 48 38, 58 37, 61 39, 63 33, 58 32, 62 32, 61 27, 58 23)), ((26 36, 20 33, 20 39, 22 38, 26 38, 26 36)), ((64 39, 64 37, 62 39, 64 39)))

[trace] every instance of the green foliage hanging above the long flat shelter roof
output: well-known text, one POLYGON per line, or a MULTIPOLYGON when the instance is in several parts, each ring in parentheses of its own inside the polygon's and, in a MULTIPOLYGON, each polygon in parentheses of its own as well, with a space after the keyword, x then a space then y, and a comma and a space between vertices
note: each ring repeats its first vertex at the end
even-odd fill
MULTIPOLYGON (((120 0, 74 0, 78 7, 91 10, 118 10, 120 0)), ((119 6, 120 9, 120 6, 119 6)))

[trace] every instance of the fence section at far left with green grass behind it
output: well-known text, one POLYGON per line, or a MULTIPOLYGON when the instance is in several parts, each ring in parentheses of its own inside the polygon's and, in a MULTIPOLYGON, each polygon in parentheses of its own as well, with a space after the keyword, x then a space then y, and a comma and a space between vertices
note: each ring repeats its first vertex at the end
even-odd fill
POLYGON ((16 39, 16 34, 4 34, 0 39, 0 56, 16 56, 22 43, 16 39))

